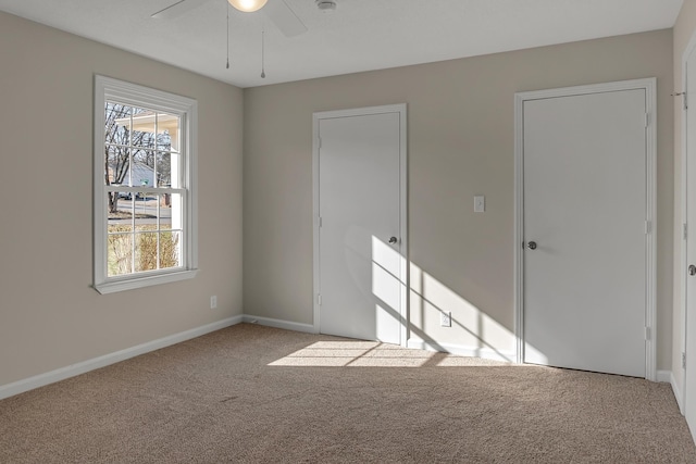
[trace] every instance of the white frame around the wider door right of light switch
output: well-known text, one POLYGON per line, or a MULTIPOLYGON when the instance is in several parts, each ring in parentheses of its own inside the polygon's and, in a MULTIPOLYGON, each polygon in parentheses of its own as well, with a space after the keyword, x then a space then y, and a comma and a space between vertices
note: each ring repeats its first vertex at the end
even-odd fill
POLYGON ((514 334, 517 338, 517 361, 524 362, 524 102, 545 98, 644 89, 646 92, 647 165, 646 165, 646 350, 645 378, 655 381, 656 371, 656 153, 657 153, 657 100, 656 79, 635 79, 589 86, 564 87, 558 89, 518 92, 514 95, 514 334))

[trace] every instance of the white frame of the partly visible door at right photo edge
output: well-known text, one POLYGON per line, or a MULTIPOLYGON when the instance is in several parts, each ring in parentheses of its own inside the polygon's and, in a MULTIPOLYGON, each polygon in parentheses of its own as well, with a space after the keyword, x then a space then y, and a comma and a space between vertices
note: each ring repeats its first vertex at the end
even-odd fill
MULTIPOLYGON (((686 64, 688 62, 688 57, 692 54, 692 52, 694 51, 694 49, 696 49, 696 33, 694 33, 694 35, 692 35, 691 40, 688 41, 688 45, 686 46, 686 49, 684 50, 684 53, 682 54, 682 90, 678 90, 678 91, 685 91, 686 90, 686 79, 687 79, 687 72, 688 70, 686 68, 686 64)), ((682 98, 684 98, 682 96, 682 98)), ((682 153, 680 156, 680 162, 682 163, 682 178, 681 178, 681 201, 682 201, 682 208, 681 208, 681 223, 682 223, 682 239, 680 241, 680 269, 681 273, 678 273, 678 277, 680 279, 681 283, 681 294, 680 294, 680 314, 679 314, 679 319, 682 321, 682 330, 680 334, 674 334, 674 336, 680 337, 680 343, 681 343, 681 353, 682 355, 686 355, 686 337, 688 336, 686 334, 686 317, 687 317, 687 313, 686 313, 686 266, 688 265, 688 261, 687 261, 687 256, 686 256, 686 220, 687 220, 687 202, 688 202, 688 198, 687 198, 687 191, 686 191, 686 186, 688 184, 688 176, 687 176, 687 172, 686 172, 686 165, 687 165, 687 121, 686 121, 686 115, 685 115, 685 109, 684 109, 684 104, 683 104, 682 100, 682 153)), ((684 365, 682 364, 682 383, 681 385, 676 385, 674 383, 674 378, 672 377, 671 379, 671 384, 672 384, 672 389, 674 390, 674 397, 676 397, 676 403, 679 404, 679 409, 680 412, 682 414, 685 414, 685 401, 686 400, 686 374, 685 374, 685 368, 684 365)))

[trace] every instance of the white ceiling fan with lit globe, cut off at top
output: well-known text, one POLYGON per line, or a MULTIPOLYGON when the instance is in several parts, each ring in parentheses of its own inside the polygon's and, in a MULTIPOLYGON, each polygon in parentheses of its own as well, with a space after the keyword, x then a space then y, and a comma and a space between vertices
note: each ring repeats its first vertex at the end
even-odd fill
MULTIPOLYGON (((185 12, 192 10, 201 4, 209 2, 211 0, 179 0, 160 11, 152 14, 152 17, 156 18, 173 18, 184 14, 185 12)), ((244 9, 244 3, 249 3, 248 1, 235 1, 232 0, 229 3, 235 7, 239 11, 256 11, 251 9, 244 9), (241 7, 237 7, 235 3, 241 3, 241 7)), ((307 32, 307 26, 302 21, 297 17, 297 14, 288 7, 285 0, 268 0, 268 2, 261 1, 258 2, 261 11, 276 25, 278 29, 286 37, 295 37, 299 36, 307 32), (264 4, 265 3, 265 4, 264 4), (263 7, 263 8, 261 8, 263 7)))

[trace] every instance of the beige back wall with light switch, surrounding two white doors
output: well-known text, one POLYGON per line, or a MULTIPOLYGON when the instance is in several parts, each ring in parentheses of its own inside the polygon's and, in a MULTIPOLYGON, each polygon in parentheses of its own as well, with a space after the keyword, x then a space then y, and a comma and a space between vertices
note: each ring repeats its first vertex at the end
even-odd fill
POLYGON ((439 343, 476 343, 473 331, 484 348, 511 348, 514 92, 651 76, 658 368, 671 368, 671 30, 246 89, 245 312, 312 324, 312 113, 406 102, 411 261, 465 328, 438 327, 418 296, 412 323, 439 343), (473 213, 474 193, 486 196, 485 214, 473 213))

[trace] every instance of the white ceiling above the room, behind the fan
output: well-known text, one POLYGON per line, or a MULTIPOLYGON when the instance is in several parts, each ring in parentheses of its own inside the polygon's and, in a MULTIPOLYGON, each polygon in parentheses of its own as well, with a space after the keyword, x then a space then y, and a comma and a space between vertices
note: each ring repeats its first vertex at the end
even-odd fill
POLYGON ((309 32, 287 38, 262 12, 229 9, 229 70, 227 1, 150 17, 175 1, 0 0, 0 10, 254 87, 668 28, 683 0, 336 0, 332 13, 314 0, 285 0, 309 32))

